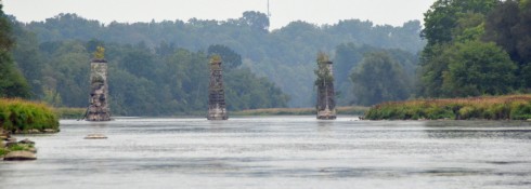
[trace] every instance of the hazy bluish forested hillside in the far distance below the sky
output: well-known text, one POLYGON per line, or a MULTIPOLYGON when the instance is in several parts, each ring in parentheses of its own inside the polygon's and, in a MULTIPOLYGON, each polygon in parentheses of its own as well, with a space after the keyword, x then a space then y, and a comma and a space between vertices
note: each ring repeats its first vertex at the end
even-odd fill
MULTIPOLYGON (((266 77, 274 82, 289 95, 288 105, 290 107, 314 106, 315 98, 312 94, 315 94, 315 91, 312 83, 315 80, 313 70, 315 69, 314 55, 316 52, 334 54, 336 46, 351 43, 360 46, 357 53, 365 51, 361 46, 366 44, 375 50, 400 49, 403 52, 415 54, 424 46, 424 42, 418 37, 420 31, 418 21, 407 22, 400 27, 375 26, 368 21, 359 19, 340 21, 335 25, 324 26, 293 22, 281 29, 270 31, 268 30, 269 18, 259 12, 245 12, 241 18, 228 21, 192 18, 187 22, 164 21, 133 24, 113 22, 107 25, 75 14, 61 14, 46 22, 22 24, 22 28, 36 33, 37 39, 42 43, 42 51, 57 48, 57 41, 79 40, 85 42, 98 39, 95 41, 105 41, 107 45, 143 43, 146 49, 155 51, 158 56, 166 56, 171 53, 172 49, 186 49, 190 52, 203 51, 207 54, 221 53, 228 55, 228 59, 223 58, 226 60, 228 68, 249 68, 257 76, 266 77), (225 48, 241 55, 241 62, 237 60, 238 57, 231 56, 225 48)), ((87 45, 88 52, 93 51, 90 46, 94 44, 87 45)), ((348 57, 348 55, 342 56, 348 57)), ((130 59, 135 58, 131 54, 130 59)), ((331 59, 335 62, 334 57, 331 59)), ((335 68, 334 71, 342 73, 335 78, 336 81, 350 83, 349 75, 359 60, 361 58, 345 59, 338 63, 342 65, 340 68, 335 68)), ((126 64, 131 65, 124 65, 124 69, 135 63, 126 64)), ((159 68, 147 67, 139 69, 141 72, 131 73, 151 80, 152 78, 146 76, 145 71, 159 68)), ((126 71, 130 72, 130 70, 126 71)), ((345 96, 340 99, 342 102, 340 105, 351 104, 352 90, 348 86, 337 89, 345 96)), ((197 89, 186 92, 195 91, 197 89)), ((61 97, 64 98, 64 96, 61 97)), ((204 100, 203 98, 204 96, 199 96, 200 100, 204 100)))

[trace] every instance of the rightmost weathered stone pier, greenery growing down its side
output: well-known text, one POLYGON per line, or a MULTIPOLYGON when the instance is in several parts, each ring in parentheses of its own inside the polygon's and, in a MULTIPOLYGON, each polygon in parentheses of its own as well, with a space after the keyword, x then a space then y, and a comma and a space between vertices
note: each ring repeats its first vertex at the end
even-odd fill
POLYGON ((335 120, 336 119, 336 94, 334 92, 334 72, 332 62, 324 53, 318 55, 318 119, 335 120))

